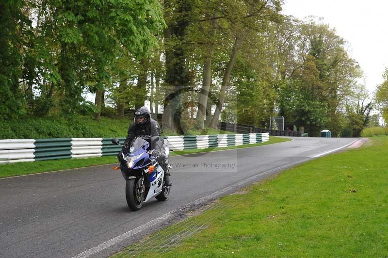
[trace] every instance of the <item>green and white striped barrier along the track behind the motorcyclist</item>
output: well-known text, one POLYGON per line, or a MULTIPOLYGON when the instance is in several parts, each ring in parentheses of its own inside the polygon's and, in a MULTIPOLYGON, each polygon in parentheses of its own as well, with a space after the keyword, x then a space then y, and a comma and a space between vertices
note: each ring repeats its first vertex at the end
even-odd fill
MULTIPOLYGON (((227 147, 269 141, 269 133, 167 136, 171 150, 227 147)), ((70 158, 115 156, 121 146, 112 138, 60 138, 0 140, 0 164, 70 158)), ((119 138, 124 143, 125 138, 119 138)))

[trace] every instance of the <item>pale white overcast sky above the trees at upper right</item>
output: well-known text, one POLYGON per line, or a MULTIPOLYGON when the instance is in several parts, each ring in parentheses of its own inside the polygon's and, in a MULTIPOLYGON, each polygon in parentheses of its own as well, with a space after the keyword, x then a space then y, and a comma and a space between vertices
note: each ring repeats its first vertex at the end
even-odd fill
POLYGON ((282 13, 299 19, 323 17, 348 42, 348 52, 373 93, 388 67, 387 10, 388 0, 284 0, 282 13))

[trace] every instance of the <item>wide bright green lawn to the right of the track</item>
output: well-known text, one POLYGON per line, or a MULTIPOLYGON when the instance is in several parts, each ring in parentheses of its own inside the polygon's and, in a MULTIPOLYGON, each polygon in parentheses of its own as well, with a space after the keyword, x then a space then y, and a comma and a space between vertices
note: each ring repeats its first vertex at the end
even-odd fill
POLYGON ((163 257, 387 257, 387 157, 388 136, 373 137, 225 196, 210 227, 163 257))

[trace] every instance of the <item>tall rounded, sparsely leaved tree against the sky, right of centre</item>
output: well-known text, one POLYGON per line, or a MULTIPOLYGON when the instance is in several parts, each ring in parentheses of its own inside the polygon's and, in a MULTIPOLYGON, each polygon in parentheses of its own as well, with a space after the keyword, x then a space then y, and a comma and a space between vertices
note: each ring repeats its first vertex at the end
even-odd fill
POLYGON ((294 68, 286 88, 279 90, 281 115, 310 135, 319 135, 323 128, 340 135, 360 68, 348 56, 344 40, 327 25, 309 21, 299 27, 294 68))

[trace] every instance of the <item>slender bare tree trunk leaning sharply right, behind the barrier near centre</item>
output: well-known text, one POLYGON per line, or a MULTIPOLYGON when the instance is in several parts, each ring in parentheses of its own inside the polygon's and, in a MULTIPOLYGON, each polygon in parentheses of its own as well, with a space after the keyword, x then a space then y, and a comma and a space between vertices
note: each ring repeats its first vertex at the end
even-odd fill
POLYGON ((240 47, 240 42, 239 42, 239 39, 236 38, 232 49, 232 55, 230 56, 229 62, 226 66, 224 78, 222 79, 219 102, 217 103, 213 118, 211 119, 211 122, 210 122, 210 127, 213 129, 217 129, 218 119, 220 118, 221 109, 225 101, 226 87, 229 84, 230 73, 232 72, 233 66, 236 63, 239 47, 240 47))

